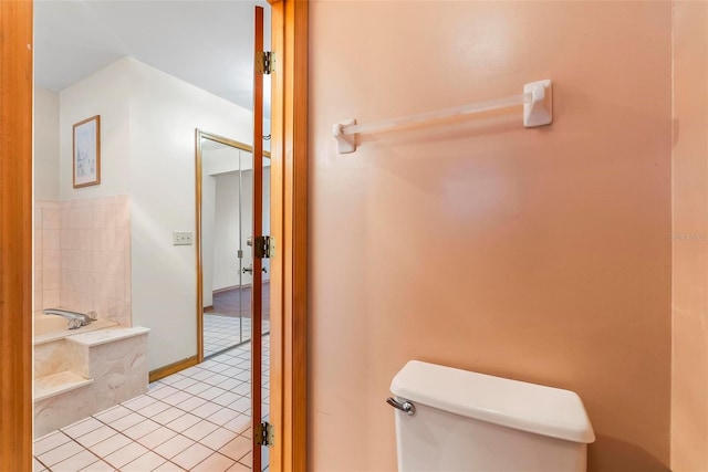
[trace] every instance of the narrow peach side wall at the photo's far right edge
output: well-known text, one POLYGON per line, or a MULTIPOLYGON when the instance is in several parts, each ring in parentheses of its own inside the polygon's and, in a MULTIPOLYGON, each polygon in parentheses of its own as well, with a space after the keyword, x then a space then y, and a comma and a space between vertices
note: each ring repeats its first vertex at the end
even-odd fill
POLYGON ((708 470, 708 3, 674 3, 671 468, 708 470))

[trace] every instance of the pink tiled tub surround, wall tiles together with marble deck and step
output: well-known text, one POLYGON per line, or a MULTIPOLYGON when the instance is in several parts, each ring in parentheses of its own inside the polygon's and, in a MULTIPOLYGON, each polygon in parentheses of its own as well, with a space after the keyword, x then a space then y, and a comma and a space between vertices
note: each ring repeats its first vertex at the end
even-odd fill
POLYGON ((147 329, 132 326, 128 196, 35 201, 35 436, 144 394, 147 329), (44 308, 94 311, 76 331, 44 308), (123 327, 119 327, 123 326, 123 327))

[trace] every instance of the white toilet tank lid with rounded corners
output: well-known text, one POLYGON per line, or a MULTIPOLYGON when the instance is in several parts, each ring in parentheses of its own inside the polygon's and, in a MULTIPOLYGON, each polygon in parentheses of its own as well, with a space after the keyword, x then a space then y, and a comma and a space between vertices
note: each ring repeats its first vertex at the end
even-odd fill
POLYGON ((428 407, 521 431, 590 443, 595 433, 570 390, 410 360, 391 391, 428 407))

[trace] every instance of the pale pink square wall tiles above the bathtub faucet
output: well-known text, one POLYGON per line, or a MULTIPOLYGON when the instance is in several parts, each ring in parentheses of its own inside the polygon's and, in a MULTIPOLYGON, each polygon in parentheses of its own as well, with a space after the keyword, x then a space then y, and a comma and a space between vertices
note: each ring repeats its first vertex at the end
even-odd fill
POLYGON ((35 201, 34 307, 95 311, 131 326, 128 196, 35 201))

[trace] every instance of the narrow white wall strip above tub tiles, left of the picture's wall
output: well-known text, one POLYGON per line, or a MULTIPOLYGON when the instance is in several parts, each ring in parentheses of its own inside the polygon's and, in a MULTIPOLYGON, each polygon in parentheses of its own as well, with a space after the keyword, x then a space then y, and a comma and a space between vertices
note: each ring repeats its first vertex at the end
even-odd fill
POLYGON ((34 87, 34 199, 59 200, 59 93, 34 87))

